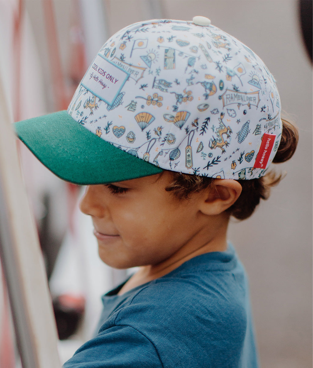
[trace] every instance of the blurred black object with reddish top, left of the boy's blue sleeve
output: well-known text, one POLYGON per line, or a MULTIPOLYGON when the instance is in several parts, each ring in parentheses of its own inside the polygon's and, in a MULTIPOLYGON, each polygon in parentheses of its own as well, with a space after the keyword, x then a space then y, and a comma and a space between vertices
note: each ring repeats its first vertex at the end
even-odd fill
POLYGON ((60 340, 73 335, 82 319, 85 310, 85 298, 68 294, 60 295, 53 300, 53 311, 60 340))

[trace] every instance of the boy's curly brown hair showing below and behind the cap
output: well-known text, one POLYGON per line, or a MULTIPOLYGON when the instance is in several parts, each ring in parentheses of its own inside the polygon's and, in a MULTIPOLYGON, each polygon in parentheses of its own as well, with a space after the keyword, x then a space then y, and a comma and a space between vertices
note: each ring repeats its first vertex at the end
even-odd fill
MULTIPOLYGON (((298 129, 288 121, 282 119, 282 137, 273 163, 280 163, 289 160, 295 153, 298 144, 298 129)), ((190 194, 200 192, 204 188, 214 185, 214 179, 199 175, 184 174, 170 171, 172 182, 165 188, 177 199, 186 199, 190 194)), ((270 189, 277 185, 282 178, 282 174, 270 171, 263 177, 251 180, 237 180, 242 186, 242 192, 237 201, 228 208, 229 215, 238 220, 247 219, 252 215, 260 199, 267 199, 270 189)))

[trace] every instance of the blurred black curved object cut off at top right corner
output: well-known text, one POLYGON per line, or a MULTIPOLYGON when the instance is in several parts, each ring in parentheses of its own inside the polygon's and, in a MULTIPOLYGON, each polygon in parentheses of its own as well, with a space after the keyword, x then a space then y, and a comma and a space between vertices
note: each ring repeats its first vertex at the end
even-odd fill
POLYGON ((312 62, 312 0, 299 0, 299 17, 303 41, 312 62))

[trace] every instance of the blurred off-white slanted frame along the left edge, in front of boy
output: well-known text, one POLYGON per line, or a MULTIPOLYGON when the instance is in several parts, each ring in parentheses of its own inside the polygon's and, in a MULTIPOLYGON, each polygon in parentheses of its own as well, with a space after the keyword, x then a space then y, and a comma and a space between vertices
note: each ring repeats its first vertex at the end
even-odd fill
MULTIPOLYGON (((0 60, 3 62, 3 60, 0 60)), ((23 368, 60 367, 45 268, 23 185, 0 64, 0 256, 23 368)))

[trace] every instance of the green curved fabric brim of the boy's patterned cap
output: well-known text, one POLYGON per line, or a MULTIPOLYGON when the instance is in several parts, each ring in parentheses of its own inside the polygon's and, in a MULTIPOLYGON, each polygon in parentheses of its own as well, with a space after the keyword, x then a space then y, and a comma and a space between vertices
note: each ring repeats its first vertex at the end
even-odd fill
POLYGON ((19 121, 14 127, 32 153, 70 183, 113 183, 163 171, 97 137, 66 111, 19 121))

